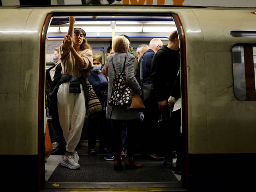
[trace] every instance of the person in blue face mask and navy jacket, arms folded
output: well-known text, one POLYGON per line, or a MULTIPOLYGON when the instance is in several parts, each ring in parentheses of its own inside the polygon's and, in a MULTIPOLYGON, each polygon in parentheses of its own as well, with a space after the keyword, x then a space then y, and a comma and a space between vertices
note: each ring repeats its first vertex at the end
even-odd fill
POLYGON ((100 136, 100 152, 106 152, 108 150, 108 122, 106 122, 106 105, 107 105, 107 90, 108 90, 108 79, 101 72, 102 68, 102 56, 100 54, 93 54, 93 70, 88 76, 88 81, 92 85, 100 103, 102 105, 102 112, 97 117, 89 117, 88 119, 88 152, 89 154, 96 154, 96 137, 99 131, 100 136))

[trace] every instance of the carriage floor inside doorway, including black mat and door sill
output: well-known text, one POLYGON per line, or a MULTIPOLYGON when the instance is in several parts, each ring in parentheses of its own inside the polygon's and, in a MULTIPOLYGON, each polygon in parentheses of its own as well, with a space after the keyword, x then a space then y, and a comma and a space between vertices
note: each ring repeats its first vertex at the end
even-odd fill
MULTIPOLYGON (((135 159, 143 164, 142 168, 115 171, 113 161, 104 160, 104 156, 109 154, 91 155, 84 146, 77 151, 81 166, 78 170, 61 166, 62 155, 50 155, 46 160, 46 190, 51 188, 176 188, 180 191, 181 189, 181 176, 164 167, 163 160, 153 160, 136 154, 135 159)), ((124 160, 122 164, 124 165, 124 160)))

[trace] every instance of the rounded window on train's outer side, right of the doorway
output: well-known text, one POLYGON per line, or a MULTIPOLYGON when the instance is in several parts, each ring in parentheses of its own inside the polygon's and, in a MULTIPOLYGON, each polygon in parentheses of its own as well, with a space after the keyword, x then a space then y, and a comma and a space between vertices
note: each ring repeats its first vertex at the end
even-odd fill
POLYGON ((256 100, 256 45, 232 48, 234 95, 238 100, 256 100))

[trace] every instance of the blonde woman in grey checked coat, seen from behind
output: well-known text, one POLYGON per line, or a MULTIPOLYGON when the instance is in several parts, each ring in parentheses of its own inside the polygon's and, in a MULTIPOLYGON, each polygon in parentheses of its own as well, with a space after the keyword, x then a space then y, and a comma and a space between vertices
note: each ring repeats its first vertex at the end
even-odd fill
MULTIPOLYGON (((110 99, 113 80, 115 72, 112 66, 112 62, 116 69, 116 73, 122 72, 124 66, 124 60, 126 58, 125 64, 125 74, 128 84, 132 87, 134 92, 141 95, 141 88, 134 76, 134 56, 129 54, 130 42, 124 36, 116 36, 114 38, 112 48, 115 54, 108 56, 108 100, 110 99)), ((127 157, 125 161, 126 169, 140 168, 142 164, 136 163, 134 160, 134 134, 136 134, 136 122, 139 120, 138 110, 127 110, 126 107, 119 108, 116 106, 107 106, 106 117, 110 120, 112 126, 113 135, 113 152, 114 152, 114 170, 122 170, 123 166, 121 164, 120 150, 122 148, 122 126, 127 126, 127 136, 126 136, 126 147, 127 147, 127 157)))

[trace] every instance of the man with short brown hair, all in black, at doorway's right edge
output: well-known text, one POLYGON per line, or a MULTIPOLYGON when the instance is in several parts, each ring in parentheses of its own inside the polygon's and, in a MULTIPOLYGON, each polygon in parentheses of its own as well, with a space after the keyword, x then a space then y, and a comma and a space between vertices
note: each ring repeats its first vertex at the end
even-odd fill
POLYGON ((158 107, 162 115, 162 154, 164 166, 172 168, 172 122, 168 98, 172 95, 174 81, 180 68, 180 48, 178 32, 170 34, 168 45, 162 46, 152 60, 150 80, 153 94, 158 100, 158 107))

